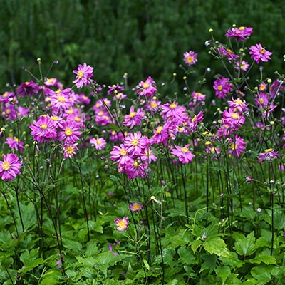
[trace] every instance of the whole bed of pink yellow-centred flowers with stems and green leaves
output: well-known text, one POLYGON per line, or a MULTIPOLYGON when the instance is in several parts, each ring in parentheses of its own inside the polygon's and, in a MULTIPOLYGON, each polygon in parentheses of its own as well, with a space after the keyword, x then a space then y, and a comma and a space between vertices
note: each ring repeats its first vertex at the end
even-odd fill
POLYGON ((100 85, 87 63, 66 87, 41 58, 8 86, 1 284, 285 284, 285 77, 264 78, 253 32, 210 29, 221 72, 196 80, 185 51, 172 95, 151 76, 100 85))

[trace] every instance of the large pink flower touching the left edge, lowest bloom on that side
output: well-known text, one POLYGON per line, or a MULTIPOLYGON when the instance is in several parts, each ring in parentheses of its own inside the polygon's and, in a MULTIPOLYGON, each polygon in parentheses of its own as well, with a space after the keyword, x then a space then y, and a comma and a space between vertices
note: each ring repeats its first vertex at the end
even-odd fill
POLYGON ((21 174, 21 162, 17 155, 9 153, 4 155, 4 161, 0 161, 0 176, 2 180, 14 180, 14 178, 21 174))

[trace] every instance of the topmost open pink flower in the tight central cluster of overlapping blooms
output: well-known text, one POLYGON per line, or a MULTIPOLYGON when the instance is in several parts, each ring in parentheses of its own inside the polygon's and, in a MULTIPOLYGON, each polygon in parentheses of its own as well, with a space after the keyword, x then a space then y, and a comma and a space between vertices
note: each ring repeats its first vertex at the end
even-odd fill
POLYGON ((130 134, 128 137, 125 137, 125 150, 130 153, 130 155, 138 156, 143 149, 147 146, 148 138, 142 136, 140 132, 130 134))

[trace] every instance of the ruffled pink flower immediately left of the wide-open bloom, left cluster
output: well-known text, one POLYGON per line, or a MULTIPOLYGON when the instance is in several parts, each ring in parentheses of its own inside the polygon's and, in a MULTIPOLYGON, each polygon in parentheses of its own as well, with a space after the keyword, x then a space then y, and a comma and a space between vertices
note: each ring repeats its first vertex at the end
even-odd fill
POLYGON ((56 128, 53 120, 48 115, 41 115, 37 121, 34 120, 33 125, 30 125, 30 129, 32 130, 33 140, 40 143, 56 139, 56 128))

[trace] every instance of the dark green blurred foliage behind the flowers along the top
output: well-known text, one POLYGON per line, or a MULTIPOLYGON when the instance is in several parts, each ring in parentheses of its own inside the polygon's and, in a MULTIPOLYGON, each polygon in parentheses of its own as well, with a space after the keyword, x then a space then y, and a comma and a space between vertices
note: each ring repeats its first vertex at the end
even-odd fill
POLYGON ((125 72, 131 86, 147 76, 170 83, 175 72, 177 80, 165 92, 183 92, 178 66, 190 50, 199 60, 190 81, 210 66, 211 88, 222 66, 204 42, 213 28, 215 39, 226 43, 232 24, 252 26, 247 45, 261 43, 274 53, 267 73, 284 71, 284 0, 0 0, 0 6, 0 93, 6 83, 31 80, 23 66, 37 76, 36 58, 43 71, 58 60, 50 76, 69 86, 72 70, 86 62, 95 68, 95 81, 106 85, 123 81, 125 72))

